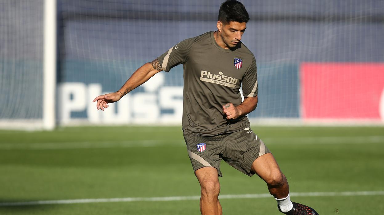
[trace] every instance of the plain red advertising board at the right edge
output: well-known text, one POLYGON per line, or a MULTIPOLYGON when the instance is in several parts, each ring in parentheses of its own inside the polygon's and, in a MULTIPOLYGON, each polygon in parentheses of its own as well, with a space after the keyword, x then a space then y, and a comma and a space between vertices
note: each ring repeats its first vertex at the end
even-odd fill
POLYGON ((383 63, 303 63, 300 76, 303 119, 380 120, 384 115, 383 63))

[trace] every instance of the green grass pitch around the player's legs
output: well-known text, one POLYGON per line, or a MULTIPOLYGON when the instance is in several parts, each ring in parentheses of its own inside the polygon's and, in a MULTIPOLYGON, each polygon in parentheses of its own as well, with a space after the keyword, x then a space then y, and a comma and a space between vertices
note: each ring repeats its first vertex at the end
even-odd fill
MULTIPOLYGON (((291 192, 384 190, 384 127, 252 127, 291 192)), ((265 183, 222 163, 220 194, 265 194, 265 183)), ((196 196, 180 127, 0 131, 0 202, 196 196)), ((321 215, 381 214, 383 196, 292 197, 321 215), (336 212, 338 211, 338 212, 336 212)), ((222 199, 224 214, 278 215, 271 198, 222 199)), ((199 214, 198 200, 0 207, 0 214, 199 214)))

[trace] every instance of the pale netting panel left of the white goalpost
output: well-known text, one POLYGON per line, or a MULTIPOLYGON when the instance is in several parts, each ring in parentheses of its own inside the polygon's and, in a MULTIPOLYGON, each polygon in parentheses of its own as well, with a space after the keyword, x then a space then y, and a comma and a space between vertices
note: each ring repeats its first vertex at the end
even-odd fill
POLYGON ((0 1, 0 127, 43 124, 43 2, 0 1))

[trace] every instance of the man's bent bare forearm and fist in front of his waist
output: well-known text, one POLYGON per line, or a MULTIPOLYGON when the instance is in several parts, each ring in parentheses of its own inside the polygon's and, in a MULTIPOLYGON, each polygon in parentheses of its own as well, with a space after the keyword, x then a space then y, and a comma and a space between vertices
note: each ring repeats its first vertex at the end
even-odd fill
POLYGON ((245 116, 256 109, 257 96, 244 98, 244 101, 234 106, 232 103, 223 105, 223 114, 227 116, 227 119, 237 119, 240 116, 245 116))

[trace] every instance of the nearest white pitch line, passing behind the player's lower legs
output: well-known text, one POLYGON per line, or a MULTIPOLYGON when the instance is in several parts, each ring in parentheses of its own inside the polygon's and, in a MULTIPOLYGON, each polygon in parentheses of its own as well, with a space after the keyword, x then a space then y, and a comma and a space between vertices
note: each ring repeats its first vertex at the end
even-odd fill
MULTIPOLYGON (((384 195, 384 191, 290 193, 291 197, 319 197, 319 196, 329 197, 329 196, 365 196, 365 195, 384 195)), ((220 195, 219 198, 220 199, 272 198, 272 196, 270 194, 239 194, 239 195, 220 195)), ((2 202, 0 203, 0 207, 26 206, 26 205, 101 203, 101 202, 169 202, 169 201, 199 200, 199 199, 200 199, 200 196, 86 198, 86 199, 67 199, 67 200, 45 200, 45 201, 33 201, 33 202, 2 202)))

